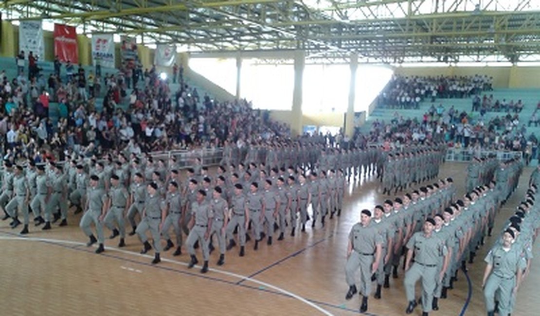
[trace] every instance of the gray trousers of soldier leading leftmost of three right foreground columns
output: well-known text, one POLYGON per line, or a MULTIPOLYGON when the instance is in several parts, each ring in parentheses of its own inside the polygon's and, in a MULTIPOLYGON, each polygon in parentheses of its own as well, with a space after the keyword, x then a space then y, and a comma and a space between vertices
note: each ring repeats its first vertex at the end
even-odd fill
POLYGON ((355 285, 355 273, 360 269, 359 291, 366 297, 371 293, 371 269, 373 260, 373 254, 365 255, 353 250, 345 264, 345 278, 349 286, 355 285))

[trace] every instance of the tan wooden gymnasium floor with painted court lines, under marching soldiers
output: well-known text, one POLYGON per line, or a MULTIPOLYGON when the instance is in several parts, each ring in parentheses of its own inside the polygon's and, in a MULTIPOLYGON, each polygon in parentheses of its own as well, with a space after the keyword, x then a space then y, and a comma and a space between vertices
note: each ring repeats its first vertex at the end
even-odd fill
MULTIPOLYGON (((463 194, 463 163, 446 163, 441 176, 454 177, 463 194)), ((497 218, 495 232, 524 194, 531 168, 525 169, 520 186, 497 218)), ((320 224, 296 237, 262 243, 254 252, 247 244, 246 256, 238 248, 226 254, 218 267, 218 253, 211 256, 211 270, 187 269, 189 256, 164 253, 163 262, 151 265, 150 256, 139 254, 141 244, 128 237, 119 251, 118 239, 106 240, 102 255, 86 248, 87 239, 78 227, 80 215, 69 226, 49 232, 31 224, 28 237, 17 237, 8 221, 0 222, 0 314, 2 315, 353 315, 359 314, 360 298, 345 300, 345 254, 350 227, 363 208, 372 209, 384 197, 373 178, 351 184, 340 218, 320 224)), ((110 231, 105 230, 105 236, 110 231)), ((494 234, 495 235, 495 234, 494 234)), ((468 277, 458 274, 455 289, 441 300, 441 310, 431 315, 483 315, 482 262, 493 239, 487 240, 470 266, 468 277)), ((538 243, 535 253, 538 253, 538 243)), ((198 258, 201 259, 200 252, 198 258)), ((518 294, 513 315, 536 315, 540 307, 538 258, 518 294)), ((403 271, 390 280, 381 300, 369 299, 369 315, 404 315, 407 301, 403 271)), ((418 291, 417 291, 418 293, 418 291)), ((373 295, 373 293, 372 293, 373 295)), ((419 294, 417 294, 419 295, 419 294)), ((420 315, 417 308, 413 315, 420 315)))

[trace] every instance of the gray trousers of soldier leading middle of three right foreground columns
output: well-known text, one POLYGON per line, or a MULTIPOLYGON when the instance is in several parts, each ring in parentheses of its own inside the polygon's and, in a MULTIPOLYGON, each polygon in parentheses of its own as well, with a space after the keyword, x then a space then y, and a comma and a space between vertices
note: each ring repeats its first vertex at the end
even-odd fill
POLYGON ((424 312, 431 311, 437 273, 437 265, 426 266, 416 262, 405 272, 403 283, 405 285, 407 301, 416 300, 414 286, 418 280, 422 279, 422 311, 424 312))

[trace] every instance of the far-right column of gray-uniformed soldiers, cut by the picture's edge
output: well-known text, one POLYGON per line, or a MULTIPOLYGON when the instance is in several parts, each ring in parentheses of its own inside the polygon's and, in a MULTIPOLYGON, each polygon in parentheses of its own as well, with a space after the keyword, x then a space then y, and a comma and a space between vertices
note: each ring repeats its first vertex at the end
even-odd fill
POLYGON ((482 279, 488 316, 510 315, 514 311, 519 286, 528 276, 532 247, 540 232, 540 210, 536 203, 540 185, 540 167, 531 175, 524 200, 505 222, 500 237, 484 261, 487 264, 482 279))

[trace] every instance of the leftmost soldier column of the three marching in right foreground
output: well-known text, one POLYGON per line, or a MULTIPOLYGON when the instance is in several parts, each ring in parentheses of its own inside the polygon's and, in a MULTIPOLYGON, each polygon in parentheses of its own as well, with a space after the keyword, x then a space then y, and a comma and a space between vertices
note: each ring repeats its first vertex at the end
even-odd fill
POLYGON ((363 210, 361 221, 349 233, 345 267, 349 291, 346 299, 356 292, 363 296, 361 312, 367 311, 371 283, 376 281, 375 298, 382 297, 382 287, 390 286, 390 274, 398 278, 398 267, 407 245, 415 233, 422 230, 427 218, 446 208, 455 196, 451 178, 421 187, 394 201, 386 200, 372 211, 363 210), (373 218, 372 218, 373 215, 373 218), (360 269, 360 290, 355 273, 360 269))

